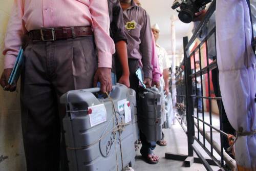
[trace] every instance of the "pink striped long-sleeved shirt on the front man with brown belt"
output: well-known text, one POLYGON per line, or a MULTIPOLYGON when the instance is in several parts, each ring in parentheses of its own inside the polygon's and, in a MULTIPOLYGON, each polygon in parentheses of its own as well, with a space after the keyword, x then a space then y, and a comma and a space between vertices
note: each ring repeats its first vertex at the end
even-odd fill
POLYGON ((111 68, 114 41, 109 36, 107 0, 14 0, 5 37, 5 69, 13 68, 21 36, 49 27, 92 26, 98 67, 111 68))

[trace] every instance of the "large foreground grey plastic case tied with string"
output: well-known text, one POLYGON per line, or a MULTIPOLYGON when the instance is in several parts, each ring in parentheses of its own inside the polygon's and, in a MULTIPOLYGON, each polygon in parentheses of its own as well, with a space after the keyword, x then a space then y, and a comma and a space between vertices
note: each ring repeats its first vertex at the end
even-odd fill
MULTIPOLYGON (((115 115, 109 98, 95 97, 93 93, 98 91, 99 88, 76 90, 61 96, 60 102, 67 106, 63 127, 71 171, 112 171, 134 165, 133 124, 128 122, 122 131, 113 133, 114 126, 125 122, 124 111, 115 115), (106 109, 106 121, 91 127, 88 107, 101 103, 106 109)), ((128 89, 122 84, 113 86, 110 97, 116 111, 118 101, 127 99, 128 95, 128 89)))

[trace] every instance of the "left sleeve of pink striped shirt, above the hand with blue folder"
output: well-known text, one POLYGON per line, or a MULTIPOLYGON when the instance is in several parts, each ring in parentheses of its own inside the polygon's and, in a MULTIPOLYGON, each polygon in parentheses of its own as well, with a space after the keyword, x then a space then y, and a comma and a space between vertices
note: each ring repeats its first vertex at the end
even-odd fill
POLYGON ((23 1, 15 0, 5 35, 5 47, 3 51, 5 55, 4 69, 14 67, 19 48, 22 46, 22 36, 27 32, 22 20, 23 14, 23 1))

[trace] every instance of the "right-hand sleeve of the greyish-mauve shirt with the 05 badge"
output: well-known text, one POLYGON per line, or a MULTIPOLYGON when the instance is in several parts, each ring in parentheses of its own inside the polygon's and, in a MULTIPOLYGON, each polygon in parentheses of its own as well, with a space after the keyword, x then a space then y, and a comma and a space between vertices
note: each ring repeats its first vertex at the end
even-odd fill
POLYGON ((151 25, 150 25, 150 17, 144 11, 144 20, 141 26, 140 31, 140 51, 142 53, 142 64, 143 64, 143 72, 144 78, 152 79, 152 45, 151 45, 151 25))

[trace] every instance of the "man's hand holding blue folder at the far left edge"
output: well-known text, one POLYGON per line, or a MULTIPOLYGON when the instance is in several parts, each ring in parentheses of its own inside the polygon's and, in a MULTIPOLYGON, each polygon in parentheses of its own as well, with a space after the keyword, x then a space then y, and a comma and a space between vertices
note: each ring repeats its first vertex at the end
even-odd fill
POLYGON ((8 84, 8 80, 11 76, 11 73, 12 73, 12 68, 5 69, 0 78, 0 84, 4 88, 5 91, 14 92, 17 87, 16 82, 14 82, 12 86, 10 84, 8 84))

